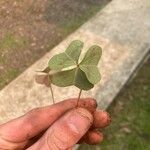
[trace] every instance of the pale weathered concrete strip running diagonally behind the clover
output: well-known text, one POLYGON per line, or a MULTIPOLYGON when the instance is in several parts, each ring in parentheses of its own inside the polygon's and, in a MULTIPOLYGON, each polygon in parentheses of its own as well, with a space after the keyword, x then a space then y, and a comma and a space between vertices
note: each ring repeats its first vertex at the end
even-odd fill
MULTIPOLYGON (((52 104, 48 88, 34 81, 37 70, 47 65, 50 57, 63 51, 74 39, 85 42, 84 51, 92 44, 103 48, 99 64, 102 80, 82 97, 95 97, 102 109, 112 102, 150 48, 150 1, 113 0, 103 11, 85 23, 18 78, 0 91, 0 123, 18 117, 28 110, 52 104)), ((77 97, 75 87, 54 86, 56 101, 77 97)))

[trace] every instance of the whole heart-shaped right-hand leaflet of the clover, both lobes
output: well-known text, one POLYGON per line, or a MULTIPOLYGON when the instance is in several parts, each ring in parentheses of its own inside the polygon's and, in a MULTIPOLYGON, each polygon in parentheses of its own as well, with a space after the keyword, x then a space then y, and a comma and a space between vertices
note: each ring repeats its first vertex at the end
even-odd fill
POLYGON ((101 47, 93 45, 86 52, 83 60, 79 64, 79 68, 86 74, 90 83, 96 84, 100 81, 100 73, 97 68, 97 64, 102 54, 101 47))

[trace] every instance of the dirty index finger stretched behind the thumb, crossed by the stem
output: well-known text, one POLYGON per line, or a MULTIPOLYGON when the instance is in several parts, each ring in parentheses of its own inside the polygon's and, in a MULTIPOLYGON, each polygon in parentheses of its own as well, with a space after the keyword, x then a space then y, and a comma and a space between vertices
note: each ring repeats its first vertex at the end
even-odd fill
MULTIPOLYGON (((46 130, 66 111, 74 108, 76 100, 69 99, 51 106, 33 109, 24 116, 1 125, 0 138, 17 143, 29 140, 41 131, 46 130)), ((96 101, 91 98, 81 99, 79 107, 87 107, 89 110, 94 111, 96 101)))

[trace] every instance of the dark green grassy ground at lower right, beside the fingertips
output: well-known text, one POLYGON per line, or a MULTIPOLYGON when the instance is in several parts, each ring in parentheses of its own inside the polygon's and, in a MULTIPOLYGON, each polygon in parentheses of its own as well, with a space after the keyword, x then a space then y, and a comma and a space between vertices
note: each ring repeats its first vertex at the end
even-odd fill
MULTIPOLYGON (((150 150, 150 58, 109 106, 101 150, 150 150)), ((96 150, 84 145, 80 150, 96 150)))

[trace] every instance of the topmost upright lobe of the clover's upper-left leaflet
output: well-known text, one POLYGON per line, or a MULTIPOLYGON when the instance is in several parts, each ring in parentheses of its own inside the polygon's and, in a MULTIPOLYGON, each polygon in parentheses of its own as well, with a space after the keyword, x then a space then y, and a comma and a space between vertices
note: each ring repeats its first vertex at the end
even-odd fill
POLYGON ((82 48, 83 42, 79 40, 74 40, 70 43, 65 52, 71 59, 78 63, 82 48))

